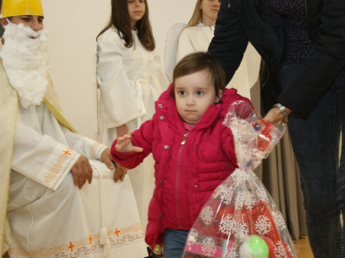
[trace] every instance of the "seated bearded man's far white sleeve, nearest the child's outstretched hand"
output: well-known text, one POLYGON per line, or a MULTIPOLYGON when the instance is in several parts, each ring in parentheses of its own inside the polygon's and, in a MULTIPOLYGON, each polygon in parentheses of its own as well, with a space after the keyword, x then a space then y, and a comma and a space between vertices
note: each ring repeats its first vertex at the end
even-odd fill
POLYGON ((68 142, 68 146, 86 156, 86 158, 93 160, 101 160, 101 153, 108 147, 95 140, 81 136, 78 133, 73 133, 66 127, 61 126, 64 136, 68 142))

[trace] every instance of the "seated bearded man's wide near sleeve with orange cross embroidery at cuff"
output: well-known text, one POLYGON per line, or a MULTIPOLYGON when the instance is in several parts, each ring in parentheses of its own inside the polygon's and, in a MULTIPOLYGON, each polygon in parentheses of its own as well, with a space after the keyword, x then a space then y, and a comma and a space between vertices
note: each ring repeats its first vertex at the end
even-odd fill
POLYGON ((56 191, 80 154, 17 122, 11 169, 56 191))

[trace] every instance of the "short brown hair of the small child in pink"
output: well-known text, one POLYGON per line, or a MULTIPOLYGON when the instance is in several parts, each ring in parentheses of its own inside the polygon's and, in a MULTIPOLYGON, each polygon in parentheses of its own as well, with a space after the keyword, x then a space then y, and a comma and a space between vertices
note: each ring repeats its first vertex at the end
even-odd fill
POLYGON ((195 52, 188 54, 177 63, 174 74, 172 76, 172 91, 171 94, 175 98, 175 80, 179 77, 194 74, 196 72, 207 71, 210 74, 210 79, 215 87, 217 97, 219 89, 224 89, 225 85, 225 72, 219 62, 209 53, 195 52))

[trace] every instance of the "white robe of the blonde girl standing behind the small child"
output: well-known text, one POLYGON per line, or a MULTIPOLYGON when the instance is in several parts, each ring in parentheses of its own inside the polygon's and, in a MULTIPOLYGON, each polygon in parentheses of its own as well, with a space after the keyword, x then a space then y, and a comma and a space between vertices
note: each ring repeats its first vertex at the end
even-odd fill
MULTIPOLYGON (((199 23, 193 27, 184 29, 179 36, 179 43, 177 46, 177 62, 179 62, 184 56, 193 52, 206 52, 208 46, 213 39, 215 33, 214 26, 206 26, 203 23, 199 23)), ((259 76, 259 69, 248 69, 247 60, 253 60, 255 56, 255 67, 259 65, 257 58, 259 54, 254 50, 253 46, 248 45, 250 52, 244 53, 241 65, 235 72, 235 75, 230 80, 230 83, 226 86, 227 88, 237 89, 237 93, 250 99, 250 87, 253 87, 259 76), (254 83, 250 80, 250 77, 254 77, 254 83)))

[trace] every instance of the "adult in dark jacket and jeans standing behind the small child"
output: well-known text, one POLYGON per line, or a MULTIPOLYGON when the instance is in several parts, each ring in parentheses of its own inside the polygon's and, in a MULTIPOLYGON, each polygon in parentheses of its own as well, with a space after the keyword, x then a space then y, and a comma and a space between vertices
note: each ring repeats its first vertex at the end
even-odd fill
POLYGON ((344 257, 345 2, 221 0, 208 52, 233 77, 248 41, 265 62, 265 119, 288 122, 315 258, 344 257))

